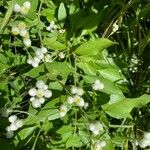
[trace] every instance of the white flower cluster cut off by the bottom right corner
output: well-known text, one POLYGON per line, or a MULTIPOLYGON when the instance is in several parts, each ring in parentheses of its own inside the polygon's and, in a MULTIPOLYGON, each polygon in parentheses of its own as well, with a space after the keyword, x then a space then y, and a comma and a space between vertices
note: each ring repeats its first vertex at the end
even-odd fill
POLYGON ((139 144, 139 146, 140 146, 141 148, 145 148, 145 147, 147 147, 147 146, 150 146, 150 132, 145 132, 143 139, 140 140, 140 141, 138 142, 138 144, 139 144))

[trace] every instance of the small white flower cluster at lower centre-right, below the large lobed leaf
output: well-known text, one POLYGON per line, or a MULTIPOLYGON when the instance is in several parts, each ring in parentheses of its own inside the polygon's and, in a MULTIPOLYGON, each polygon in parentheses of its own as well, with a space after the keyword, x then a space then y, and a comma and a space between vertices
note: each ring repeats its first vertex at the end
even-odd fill
POLYGON ((95 123, 89 124, 89 130, 96 136, 103 130, 103 126, 99 121, 96 121, 95 123))

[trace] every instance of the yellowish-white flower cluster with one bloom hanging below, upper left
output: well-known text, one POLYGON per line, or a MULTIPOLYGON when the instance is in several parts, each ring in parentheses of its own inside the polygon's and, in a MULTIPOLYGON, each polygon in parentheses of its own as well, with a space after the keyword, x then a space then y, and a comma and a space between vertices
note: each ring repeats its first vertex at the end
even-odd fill
POLYGON ((20 22, 17 26, 13 26, 11 29, 13 35, 20 35, 23 37, 23 43, 26 47, 31 46, 31 40, 29 38, 29 33, 26 29, 26 24, 24 22, 20 22))

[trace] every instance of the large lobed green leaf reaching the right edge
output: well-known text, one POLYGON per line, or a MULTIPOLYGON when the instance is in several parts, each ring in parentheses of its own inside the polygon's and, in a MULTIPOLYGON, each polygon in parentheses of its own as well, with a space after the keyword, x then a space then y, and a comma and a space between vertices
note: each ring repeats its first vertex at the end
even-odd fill
POLYGON ((139 98, 123 98, 116 103, 103 105, 103 110, 114 118, 131 118, 130 112, 135 107, 146 105, 150 102, 150 95, 143 95, 139 98))

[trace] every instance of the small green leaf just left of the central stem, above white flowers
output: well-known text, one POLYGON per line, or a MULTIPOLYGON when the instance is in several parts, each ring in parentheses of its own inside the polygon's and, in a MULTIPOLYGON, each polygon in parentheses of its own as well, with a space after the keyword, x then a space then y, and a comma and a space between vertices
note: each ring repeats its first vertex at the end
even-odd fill
POLYGON ((51 50, 64 50, 66 49, 66 45, 57 41, 57 38, 44 38, 43 45, 51 50))

